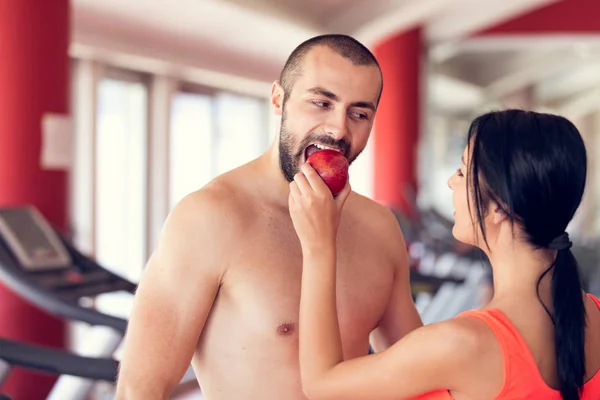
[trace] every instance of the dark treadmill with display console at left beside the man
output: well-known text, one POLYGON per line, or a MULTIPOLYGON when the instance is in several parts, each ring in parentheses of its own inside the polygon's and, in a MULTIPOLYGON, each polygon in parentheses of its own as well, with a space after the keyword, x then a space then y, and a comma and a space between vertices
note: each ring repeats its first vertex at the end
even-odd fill
MULTIPOLYGON (((52 315, 93 326, 86 334, 86 354, 73 356, 105 360, 119 348, 127 320, 86 304, 107 293, 133 296, 137 287, 75 249, 29 205, 0 209, 0 282, 52 315)), ((28 353, 21 349, 25 357, 28 353)), ((190 367, 182 383, 191 380, 195 376, 190 367)), ((90 375, 61 374, 48 400, 84 400, 94 383, 90 375)))

